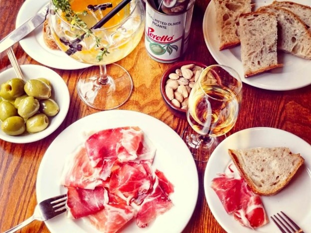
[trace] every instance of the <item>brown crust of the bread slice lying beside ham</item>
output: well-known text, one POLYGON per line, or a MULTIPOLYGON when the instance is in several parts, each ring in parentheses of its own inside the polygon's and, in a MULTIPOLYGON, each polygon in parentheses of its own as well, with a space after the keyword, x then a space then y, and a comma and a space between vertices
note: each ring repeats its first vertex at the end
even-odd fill
MULTIPOLYGON (((258 148, 256 148, 258 149, 258 148)), ((288 148, 287 148, 288 149, 288 148)), ((288 149, 289 150, 289 149, 288 149)), ((240 150, 241 151, 241 150, 240 150)), ((287 175, 286 179, 280 183, 278 186, 271 188, 269 191, 267 192, 262 192, 260 190, 260 188, 253 182, 251 174, 248 174, 246 172, 246 169, 243 167, 243 163, 241 161, 241 158, 239 156, 239 151, 238 150, 233 150, 233 149, 228 149, 228 153, 232 159, 232 161, 234 162, 234 164, 236 165, 241 177, 246 181, 246 183, 248 184, 248 186, 252 189, 252 191, 256 194, 262 195, 262 196, 272 196, 272 195, 276 195, 277 193, 279 193, 282 189, 284 189, 289 182, 292 180, 292 178, 294 177, 294 175, 297 173, 297 171, 299 170, 299 168, 304 164, 305 159, 300 155, 300 154, 293 154, 293 153, 289 153, 289 156, 295 156, 298 163, 296 164, 296 167, 294 168, 294 170, 292 170, 292 172, 290 174, 287 175)), ((256 161, 257 163, 260 163, 260 161, 256 161)), ((292 164, 289 164, 290 166, 292 164)))

